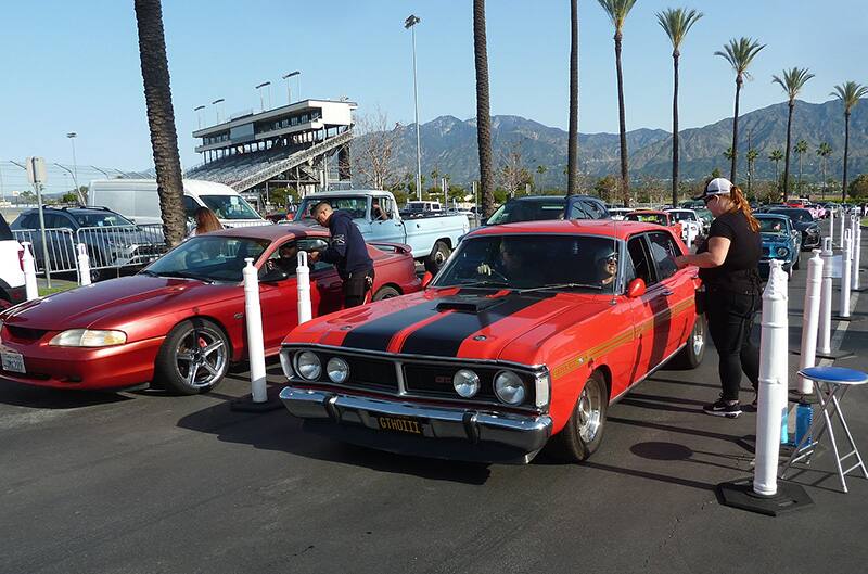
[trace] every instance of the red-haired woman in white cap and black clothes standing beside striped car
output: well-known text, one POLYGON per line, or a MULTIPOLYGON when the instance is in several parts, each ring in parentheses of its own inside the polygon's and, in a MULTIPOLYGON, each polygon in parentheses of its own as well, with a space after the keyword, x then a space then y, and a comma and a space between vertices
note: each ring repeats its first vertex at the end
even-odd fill
MULTIPOLYGON (((712 212, 709 238, 697 254, 676 257, 678 268, 695 265, 705 285, 705 317, 720 357, 720 397, 703 407, 709 414, 735 419, 741 414, 741 373, 757 388, 760 348, 751 342, 753 318, 760 308, 760 222, 738 186, 715 178, 701 196, 712 212)), ((755 404, 755 399, 754 399, 755 404)))

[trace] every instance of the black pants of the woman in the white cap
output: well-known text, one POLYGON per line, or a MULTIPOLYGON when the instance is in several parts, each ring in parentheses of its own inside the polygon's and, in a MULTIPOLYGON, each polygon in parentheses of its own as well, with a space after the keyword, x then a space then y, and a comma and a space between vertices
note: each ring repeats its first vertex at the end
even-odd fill
POLYGON ((753 320, 760 308, 760 290, 733 293, 709 286, 705 317, 717 355, 724 400, 738 400, 741 373, 754 391, 760 383, 760 348, 751 342, 753 320))

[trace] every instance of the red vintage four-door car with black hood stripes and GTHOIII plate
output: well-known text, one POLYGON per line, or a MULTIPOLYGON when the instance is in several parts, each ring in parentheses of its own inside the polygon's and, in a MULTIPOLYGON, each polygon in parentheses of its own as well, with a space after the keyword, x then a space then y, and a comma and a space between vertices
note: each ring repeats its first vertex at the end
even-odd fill
POLYGON ((424 292, 295 328, 281 399, 312 432, 393 452, 527 462, 551 443, 585 460, 609 405, 669 359, 702 360, 685 251, 642 222, 477 229, 424 292))

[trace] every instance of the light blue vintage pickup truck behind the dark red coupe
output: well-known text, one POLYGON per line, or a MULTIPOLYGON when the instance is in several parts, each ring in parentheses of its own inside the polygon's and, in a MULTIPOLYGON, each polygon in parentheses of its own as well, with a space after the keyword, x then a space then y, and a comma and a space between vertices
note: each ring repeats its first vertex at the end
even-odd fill
POLYGON ((470 230, 467 216, 445 212, 405 221, 398 213, 395 196, 379 190, 311 193, 302 200, 295 212, 295 221, 312 221, 310 211, 321 201, 328 201, 334 209, 348 212, 369 243, 409 245, 413 258, 422 262, 432 273, 443 267, 458 240, 470 230))

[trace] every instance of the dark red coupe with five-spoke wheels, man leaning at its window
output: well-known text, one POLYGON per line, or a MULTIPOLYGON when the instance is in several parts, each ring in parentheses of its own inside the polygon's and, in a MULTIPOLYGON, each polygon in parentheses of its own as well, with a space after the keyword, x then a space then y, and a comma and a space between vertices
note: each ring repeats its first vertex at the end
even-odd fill
MULTIPOLYGON (((245 359, 242 269, 259 269, 266 355, 298 324, 297 250, 328 232, 301 226, 245 227, 192 238, 140 273, 81 286, 0 314, 0 379, 60 388, 123 388, 145 382, 182 393, 214 388, 245 359)), ((406 245, 368 246, 373 298, 419 291, 406 245)), ((342 306, 334 267, 310 270, 314 316, 342 306)))

